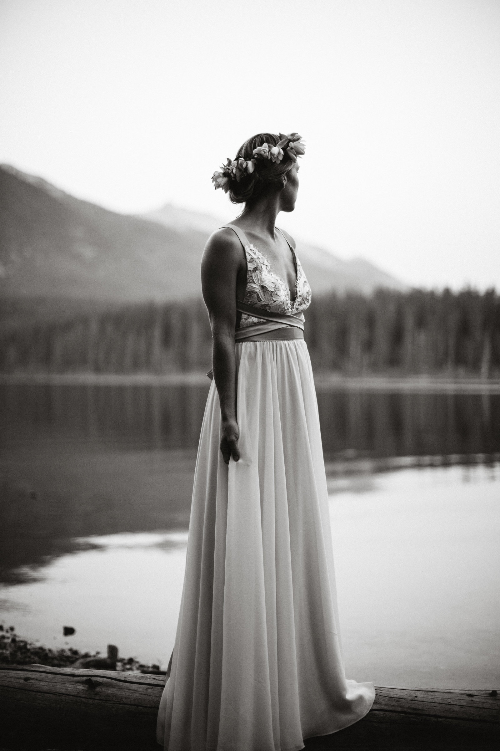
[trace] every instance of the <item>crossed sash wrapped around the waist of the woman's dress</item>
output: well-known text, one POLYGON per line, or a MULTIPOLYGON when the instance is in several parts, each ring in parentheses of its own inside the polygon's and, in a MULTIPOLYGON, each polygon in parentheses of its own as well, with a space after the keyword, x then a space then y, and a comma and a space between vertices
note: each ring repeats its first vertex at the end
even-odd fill
MULTIPOLYGON (((304 339, 304 315, 289 315, 263 310, 253 305, 236 300, 236 310, 240 313, 263 318, 264 323, 250 324, 235 330, 235 344, 241 342, 269 342, 284 341, 286 339, 304 339)), ((214 373, 209 370, 208 378, 213 379, 214 373)))

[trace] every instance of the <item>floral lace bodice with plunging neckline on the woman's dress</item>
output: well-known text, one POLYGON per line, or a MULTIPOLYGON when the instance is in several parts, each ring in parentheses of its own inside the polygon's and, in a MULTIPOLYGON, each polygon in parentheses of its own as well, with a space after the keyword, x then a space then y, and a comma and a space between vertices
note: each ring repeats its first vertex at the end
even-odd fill
MULTIPOLYGON (((311 288, 294 249, 292 249, 292 253, 295 258, 295 267, 297 270, 295 300, 290 299, 286 281, 281 276, 278 276, 277 273, 274 273, 268 258, 259 249, 250 243, 244 245, 244 250, 247 256, 247 288, 245 290, 244 303, 264 310, 288 313, 289 315, 300 313, 309 307, 312 296, 311 288)), ((253 315, 241 313, 240 327, 260 323, 262 320, 261 318, 255 318, 253 315)))

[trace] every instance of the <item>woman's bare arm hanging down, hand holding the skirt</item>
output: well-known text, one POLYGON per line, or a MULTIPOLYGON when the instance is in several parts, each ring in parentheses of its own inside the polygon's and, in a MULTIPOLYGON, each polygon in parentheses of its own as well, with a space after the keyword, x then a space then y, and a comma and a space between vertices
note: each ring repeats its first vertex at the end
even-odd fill
POLYGON ((236 421, 236 283, 244 258, 232 230, 213 234, 202 258, 202 292, 212 330, 212 368, 220 400, 222 439, 220 451, 229 464, 240 458, 236 421))

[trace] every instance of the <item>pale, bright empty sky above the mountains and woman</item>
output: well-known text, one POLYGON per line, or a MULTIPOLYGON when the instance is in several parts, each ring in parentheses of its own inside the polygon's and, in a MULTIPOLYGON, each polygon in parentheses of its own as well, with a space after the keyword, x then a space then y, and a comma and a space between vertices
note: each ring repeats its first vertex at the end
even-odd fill
POLYGON ((0 162, 122 213, 230 220, 211 175, 298 131, 278 225, 500 290, 500 0, 0 0, 0 162))

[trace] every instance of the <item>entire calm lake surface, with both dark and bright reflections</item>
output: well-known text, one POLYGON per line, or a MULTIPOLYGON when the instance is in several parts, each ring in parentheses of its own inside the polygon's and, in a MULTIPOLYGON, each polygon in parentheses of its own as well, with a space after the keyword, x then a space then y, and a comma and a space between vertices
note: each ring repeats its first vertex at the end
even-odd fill
MULTIPOLYGON (((5 625, 166 663, 207 393, 0 387, 5 625)), ((349 677, 496 686, 500 395, 322 391, 319 412, 349 677)))

